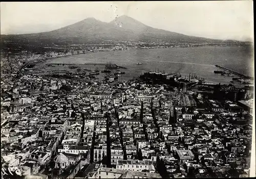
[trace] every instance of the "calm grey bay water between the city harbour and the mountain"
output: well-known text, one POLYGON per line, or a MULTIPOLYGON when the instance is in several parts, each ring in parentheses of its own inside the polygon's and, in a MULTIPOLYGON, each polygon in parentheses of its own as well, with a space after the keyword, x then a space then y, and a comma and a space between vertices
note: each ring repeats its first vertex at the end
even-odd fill
MULTIPOLYGON (((91 52, 53 58, 47 63, 115 63, 127 69, 120 80, 138 77, 144 72, 177 73, 188 78, 189 73, 204 78, 208 83, 229 84, 232 76, 221 76, 215 65, 254 77, 254 57, 252 47, 190 47, 165 49, 140 49, 108 52, 91 52), (137 64, 142 63, 142 64, 137 64)), ((60 68, 60 66, 59 66, 60 68)), ((84 66, 92 71, 104 66, 84 66)), ((238 76, 233 76, 238 77, 238 76)), ((239 82, 237 82, 239 83, 239 82)), ((236 81, 234 81, 236 84, 236 81)), ((241 85, 241 83, 239 84, 241 85)))

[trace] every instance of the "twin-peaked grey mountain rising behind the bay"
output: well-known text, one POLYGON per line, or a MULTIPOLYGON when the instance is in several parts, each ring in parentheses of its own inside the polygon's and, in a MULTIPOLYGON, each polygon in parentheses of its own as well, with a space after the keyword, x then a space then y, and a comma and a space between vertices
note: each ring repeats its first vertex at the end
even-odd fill
POLYGON ((120 16, 110 23, 104 23, 95 18, 87 18, 75 24, 50 32, 1 35, 3 41, 19 41, 33 46, 44 44, 79 44, 100 43, 106 40, 133 41, 168 41, 168 42, 223 42, 222 40, 188 36, 176 32, 155 29, 140 23, 129 16, 120 16))

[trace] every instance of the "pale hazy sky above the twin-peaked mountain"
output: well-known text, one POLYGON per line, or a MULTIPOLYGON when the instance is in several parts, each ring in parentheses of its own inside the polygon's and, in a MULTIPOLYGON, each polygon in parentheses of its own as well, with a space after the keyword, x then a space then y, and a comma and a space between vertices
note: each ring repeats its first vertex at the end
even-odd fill
POLYGON ((88 17, 127 15, 168 31, 217 39, 253 39, 253 1, 1 3, 1 34, 55 30, 88 17))

